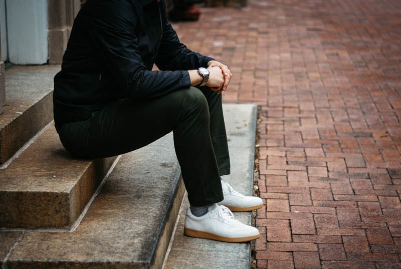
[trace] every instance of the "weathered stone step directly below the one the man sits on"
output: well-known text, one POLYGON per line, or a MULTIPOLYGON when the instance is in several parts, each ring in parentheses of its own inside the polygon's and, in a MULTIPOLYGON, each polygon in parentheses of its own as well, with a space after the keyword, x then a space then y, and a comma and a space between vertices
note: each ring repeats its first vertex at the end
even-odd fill
POLYGON ((172 136, 122 155, 74 232, 27 232, 9 268, 161 268, 184 193, 172 136))

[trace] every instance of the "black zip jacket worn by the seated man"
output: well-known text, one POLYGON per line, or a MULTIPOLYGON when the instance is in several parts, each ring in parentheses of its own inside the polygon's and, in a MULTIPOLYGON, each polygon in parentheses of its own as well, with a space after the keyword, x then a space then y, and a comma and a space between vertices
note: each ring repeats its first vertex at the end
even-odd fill
POLYGON ((164 0, 88 0, 54 78, 56 126, 86 120, 117 99, 151 99, 189 87, 186 70, 211 60, 179 42, 164 0), (162 71, 151 71, 154 63, 162 71))

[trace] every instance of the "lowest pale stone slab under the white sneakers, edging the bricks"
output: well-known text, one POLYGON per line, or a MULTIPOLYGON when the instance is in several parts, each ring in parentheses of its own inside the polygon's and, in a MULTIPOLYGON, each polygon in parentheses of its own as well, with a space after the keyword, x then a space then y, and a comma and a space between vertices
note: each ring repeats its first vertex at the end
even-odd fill
MULTIPOLYGON (((256 131, 256 106, 225 104, 231 175, 224 179, 234 189, 252 195, 256 131)), ((250 243, 225 243, 183 235, 186 199, 164 269, 240 269, 249 268, 250 243)), ((234 212, 243 223, 251 223, 251 212, 234 212)))

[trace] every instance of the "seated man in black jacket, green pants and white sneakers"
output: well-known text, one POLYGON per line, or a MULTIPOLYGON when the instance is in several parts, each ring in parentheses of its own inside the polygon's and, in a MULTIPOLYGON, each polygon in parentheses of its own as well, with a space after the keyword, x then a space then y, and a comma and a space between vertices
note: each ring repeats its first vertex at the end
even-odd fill
POLYGON ((188 193, 185 234, 228 242, 259 237, 229 208, 262 207, 221 180, 230 173, 222 96, 226 65, 187 49, 164 0, 88 0, 54 78, 54 118, 64 147, 108 157, 173 131, 188 193), (161 71, 152 71, 153 64, 161 71), (227 206, 227 207, 226 207, 227 206))

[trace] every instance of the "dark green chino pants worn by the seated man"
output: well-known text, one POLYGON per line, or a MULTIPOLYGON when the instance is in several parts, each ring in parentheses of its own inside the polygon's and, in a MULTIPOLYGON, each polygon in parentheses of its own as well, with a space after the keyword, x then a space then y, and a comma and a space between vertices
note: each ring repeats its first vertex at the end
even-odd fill
POLYGON ((173 131, 174 148, 189 203, 223 200, 220 176, 230 173, 222 96, 190 87, 157 99, 121 99, 86 121, 60 130, 64 147, 80 157, 108 157, 141 148, 173 131))

